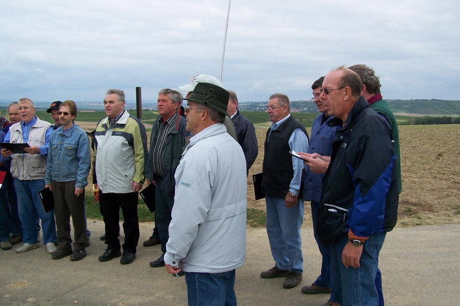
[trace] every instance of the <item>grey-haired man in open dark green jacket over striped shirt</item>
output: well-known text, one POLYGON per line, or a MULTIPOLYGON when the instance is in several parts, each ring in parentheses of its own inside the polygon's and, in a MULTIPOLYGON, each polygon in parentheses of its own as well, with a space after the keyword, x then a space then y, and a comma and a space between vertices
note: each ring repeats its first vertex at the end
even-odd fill
POLYGON ((162 255, 150 263, 153 268, 164 267, 164 255, 168 242, 168 227, 171 222, 171 211, 174 205, 174 173, 179 165, 185 137, 187 119, 177 112, 182 104, 182 94, 177 90, 165 88, 158 92, 158 118, 153 124, 150 136, 150 150, 146 169, 148 184, 155 185, 155 230, 152 236, 144 241, 144 246, 162 244, 162 255))

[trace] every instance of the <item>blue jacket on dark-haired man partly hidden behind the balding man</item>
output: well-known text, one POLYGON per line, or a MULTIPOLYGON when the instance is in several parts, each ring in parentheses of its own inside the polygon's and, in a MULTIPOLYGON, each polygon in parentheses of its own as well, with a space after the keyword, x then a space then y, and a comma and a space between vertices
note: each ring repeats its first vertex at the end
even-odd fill
MULTIPOLYGON (((308 146, 309 154, 317 153, 321 156, 331 156, 332 141, 334 141, 335 133, 338 126, 330 126, 327 123, 334 117, 329 118, 321 124, 324 114, 320 113, 313 121, 310 134, 310 144, 308 146)), ((321 181, 323 181, 324 173, 316 174, 311 172, 310 167, 305 166, 304 174, 304 199, 306 201, 319 202, 321 196, 321 181)))

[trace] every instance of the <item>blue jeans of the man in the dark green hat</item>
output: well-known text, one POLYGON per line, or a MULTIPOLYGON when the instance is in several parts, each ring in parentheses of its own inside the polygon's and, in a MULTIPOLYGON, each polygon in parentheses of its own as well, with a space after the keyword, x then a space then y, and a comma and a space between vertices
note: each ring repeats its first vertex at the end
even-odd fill
POLYGON ((186 272, 189 306, 237 305, 235 269, 222 273, 186 272))

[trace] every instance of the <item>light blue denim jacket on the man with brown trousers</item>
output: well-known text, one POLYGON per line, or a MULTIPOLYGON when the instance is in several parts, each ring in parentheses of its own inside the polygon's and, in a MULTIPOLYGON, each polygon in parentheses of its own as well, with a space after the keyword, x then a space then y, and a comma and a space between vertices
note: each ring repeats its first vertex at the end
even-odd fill
POLYGON ((45 184, 77 181, 76 188, 83 189, 88 184, 90 168, 89 141, 86 132, 74 124, 64 134, 62 126, 50 136, 45 184))

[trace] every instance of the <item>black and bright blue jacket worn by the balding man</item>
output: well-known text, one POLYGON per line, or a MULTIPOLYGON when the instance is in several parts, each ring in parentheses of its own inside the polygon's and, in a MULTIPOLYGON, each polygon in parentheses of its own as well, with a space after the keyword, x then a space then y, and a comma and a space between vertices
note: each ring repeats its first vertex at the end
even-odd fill
MULTIPOLYGON (((342 123, 334 119, 328 124, 342 123)), ((396 156, 389 126, 363 97, 343 125, 323 178, 317 231, 325 244, 349 229, 360 237, 388 232, 397 220, 396 156)))

